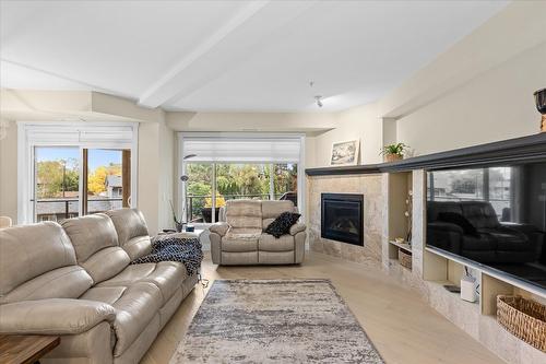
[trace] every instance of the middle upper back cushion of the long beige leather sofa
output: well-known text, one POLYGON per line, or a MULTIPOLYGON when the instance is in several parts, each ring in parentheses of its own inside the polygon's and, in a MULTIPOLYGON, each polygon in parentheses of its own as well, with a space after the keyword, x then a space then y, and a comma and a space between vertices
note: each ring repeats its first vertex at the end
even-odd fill
POLYGON ((118 246, 116 227, 104 213, 67 219, 61 225, 74 246, 78 262, 87 260, 100 249, 118 246))

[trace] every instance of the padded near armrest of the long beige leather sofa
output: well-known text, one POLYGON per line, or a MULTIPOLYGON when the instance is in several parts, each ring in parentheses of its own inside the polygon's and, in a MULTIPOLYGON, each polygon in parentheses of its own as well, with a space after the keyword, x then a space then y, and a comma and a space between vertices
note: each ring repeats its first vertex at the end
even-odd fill
POLYGON ((0 333, 78 334, 115 319, 116 309, 96 301, 21 301, 0 306, 0 333))

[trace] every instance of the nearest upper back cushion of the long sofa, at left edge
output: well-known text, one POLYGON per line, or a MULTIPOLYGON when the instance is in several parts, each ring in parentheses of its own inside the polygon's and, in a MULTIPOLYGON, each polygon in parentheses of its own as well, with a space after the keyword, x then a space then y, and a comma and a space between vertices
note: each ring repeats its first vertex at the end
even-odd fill
POLYGON ((69 237, 55 222, 2 228, 0 242, 0 296, 38 275, 76 263, 69 237))

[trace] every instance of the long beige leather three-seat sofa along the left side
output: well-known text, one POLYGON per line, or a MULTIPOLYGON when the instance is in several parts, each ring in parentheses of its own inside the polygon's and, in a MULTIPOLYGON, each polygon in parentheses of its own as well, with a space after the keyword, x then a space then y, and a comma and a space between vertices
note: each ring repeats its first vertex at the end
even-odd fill
POLYGON ((41 363, 138 363, 198 281, 151 251, 142 214, 0 231, 0 332, 60 334, 41 363))

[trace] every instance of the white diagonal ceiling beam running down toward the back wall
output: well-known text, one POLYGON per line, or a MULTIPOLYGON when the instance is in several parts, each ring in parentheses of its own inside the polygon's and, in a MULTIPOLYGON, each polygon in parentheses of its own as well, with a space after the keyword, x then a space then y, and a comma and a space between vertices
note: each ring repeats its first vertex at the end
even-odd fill
POLYGON ((266 46, 268 38, 314 2, 250 1, 152 84, 139 104, 158 107, 190 95, 266 46))

